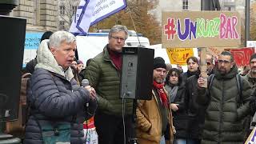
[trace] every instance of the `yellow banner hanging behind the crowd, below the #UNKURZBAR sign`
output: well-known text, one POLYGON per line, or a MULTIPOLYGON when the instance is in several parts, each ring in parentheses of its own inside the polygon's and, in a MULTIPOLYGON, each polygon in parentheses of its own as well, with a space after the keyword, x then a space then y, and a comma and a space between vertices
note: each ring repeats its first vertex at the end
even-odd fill
POLYGON ((166 49, 171 64, 186 65, 186 59, 194 56, 193 48, 166 49))

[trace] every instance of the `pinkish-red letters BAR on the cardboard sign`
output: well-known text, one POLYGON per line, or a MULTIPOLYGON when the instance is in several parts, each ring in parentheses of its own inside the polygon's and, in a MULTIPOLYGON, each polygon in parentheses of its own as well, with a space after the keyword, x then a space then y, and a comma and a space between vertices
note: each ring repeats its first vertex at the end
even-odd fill
POLYGON ((238 31, 235 26, 238 24, 238 18, 233 16, 231 18, 227 18, 225 14, 220 14, 221 25, 219 27, 219 36, 222 39, 238 39, 238 31))

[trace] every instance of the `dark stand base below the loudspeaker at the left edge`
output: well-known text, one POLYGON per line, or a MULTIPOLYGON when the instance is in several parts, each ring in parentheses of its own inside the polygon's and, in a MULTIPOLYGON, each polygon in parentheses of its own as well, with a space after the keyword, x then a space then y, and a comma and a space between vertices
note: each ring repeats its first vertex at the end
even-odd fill
POLYGON ((20 138, 14 138, 10 134, 3 133, 5 124, 6 122, 0 122, 0 144, 21 144, 20 138))

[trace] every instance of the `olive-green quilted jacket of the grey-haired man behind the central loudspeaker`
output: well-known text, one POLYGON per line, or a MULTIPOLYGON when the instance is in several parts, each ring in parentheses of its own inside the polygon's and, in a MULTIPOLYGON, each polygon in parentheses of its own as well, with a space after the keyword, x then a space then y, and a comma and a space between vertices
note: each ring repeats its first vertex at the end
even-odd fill
MULTIPOLYGON (((98 95, 98 111, 122 118, 122 99, 120 98, 120 72, 110 59, 107 45, 103 52, 90 61, 86 67, 85 78, 98 95)), ((132 114, 132 100, 126 99, 126 114, 132 114)))

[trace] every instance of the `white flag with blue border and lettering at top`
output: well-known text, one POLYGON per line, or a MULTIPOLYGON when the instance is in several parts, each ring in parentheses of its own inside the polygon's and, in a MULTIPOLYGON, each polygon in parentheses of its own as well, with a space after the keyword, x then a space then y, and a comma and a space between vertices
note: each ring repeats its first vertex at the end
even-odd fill
POLYGON ((74 35, 86 35, 89 27, 126 8, 126 0, 82 0, 70 26, 74 35))

